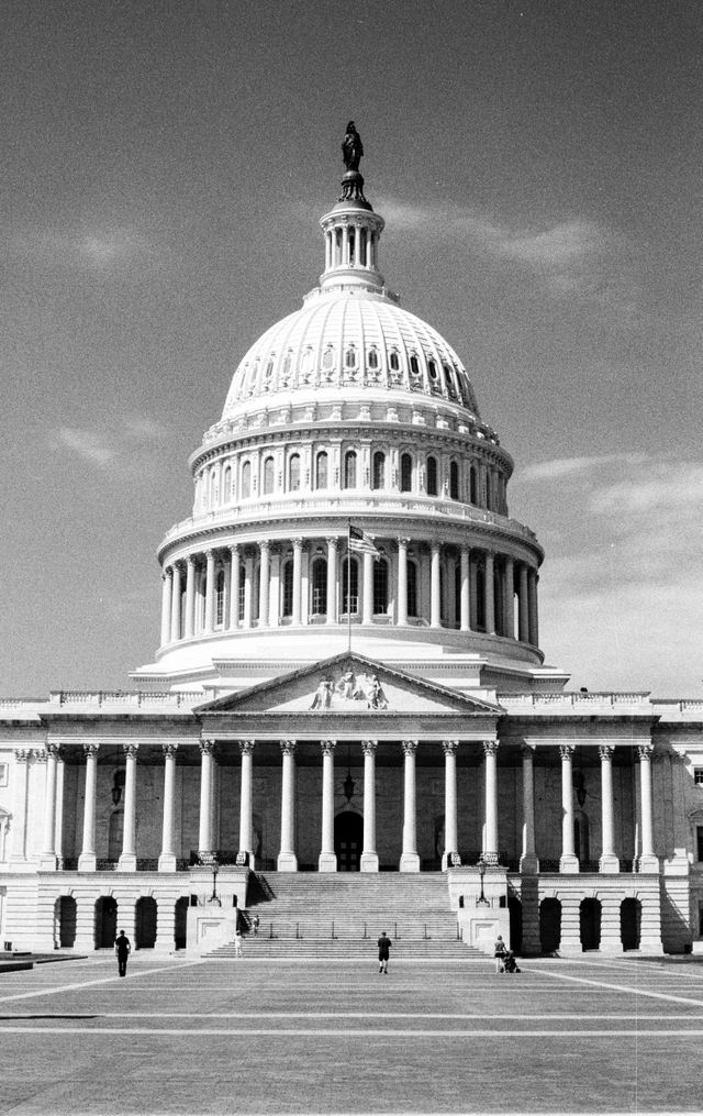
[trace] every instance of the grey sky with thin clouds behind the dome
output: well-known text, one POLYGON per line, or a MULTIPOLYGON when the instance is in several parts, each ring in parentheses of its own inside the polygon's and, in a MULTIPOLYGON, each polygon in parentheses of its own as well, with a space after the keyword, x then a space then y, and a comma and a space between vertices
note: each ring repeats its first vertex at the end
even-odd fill
POLYGON ((128 685, 232 375, 323 270, 458 352, 570 687, 701 696, 703 8, 3 0, 0 695, 128 685))

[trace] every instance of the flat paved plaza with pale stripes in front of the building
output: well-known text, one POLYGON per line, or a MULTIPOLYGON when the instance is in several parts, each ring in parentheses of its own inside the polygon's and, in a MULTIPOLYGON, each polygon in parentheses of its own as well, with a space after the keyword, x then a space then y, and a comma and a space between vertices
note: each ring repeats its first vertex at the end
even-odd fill
POLYGON ((0 1112, 703 1110, 693 961, 134 954, 0 977, 0 1112))

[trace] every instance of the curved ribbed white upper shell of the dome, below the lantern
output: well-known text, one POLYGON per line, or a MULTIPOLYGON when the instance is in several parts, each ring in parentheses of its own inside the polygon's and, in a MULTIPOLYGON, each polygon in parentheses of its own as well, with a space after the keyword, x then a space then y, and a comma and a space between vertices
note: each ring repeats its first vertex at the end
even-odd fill
POLYGON ((261 396, 325 387, 357 398, 363 388, 418 393, 479 417, 466 369, 436 329, 384 295, 349 290, 313 291, 267 329, 238 365, 222 417, 261 396))

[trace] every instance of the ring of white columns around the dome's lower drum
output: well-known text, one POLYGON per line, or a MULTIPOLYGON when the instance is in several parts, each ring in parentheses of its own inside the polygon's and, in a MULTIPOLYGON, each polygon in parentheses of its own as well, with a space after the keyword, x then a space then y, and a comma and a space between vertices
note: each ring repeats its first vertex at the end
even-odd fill
MULTIPOLYGON (((292 609, 291 623, 297 626, 303 623, 303 547, 306 540, 295 538, 292 540, 293 547, 293 569, 292 569, 292 609)), ((338 561, 338 549, 340 540, 331 537, 326 542, 326 623, 339 624, 339 600, 340 600, 340 567, 338 561)), ((398 604, 396 624, 404 627, 409 623, 408 617, 408 549, 411 540, 399 538, 397 555, 397 586, 398 604)), ((281 623, 281 589, 280 589, 280 565, 281 559, 277 551, 272 552, 272 543, 262 540, 256 543, 258 549, 258 625, 263 627, 277 627, 281 623), (275 587, 275 588, 274 588, 275 587), (275 591, 277 590, 277 591, 275 591)), ((523 643, 530 643, 533 646, 539 644, 538 612, 537 612, 537 570, 526 562, 516 561, 509 556, 500 556, 500 569, 497 568, 496 558, 492 551, 470 550, 461 547, 459 558, 460 590, 459 590, 459 627, 462 632, 473 631, 471 602, 475 603, 473 614, 476 615, 478 590, 478 562, 472 560, 472 556, 481 556, 482 590, 481 605, 484 614, 484 625, 481 632, 495 635, 498 626, 501 634, 512 636, 516 629, 516 595, 517 595, 517 637, 523 643), (501 619, 497 625, 496 597, 497 588, 502 598, 501 619)), ((196 634, 196 583, 198 571, 199 555, 188 555, 185 562, 176 561, 166 566, 163 573, 162 588, 162 646, 175 643, 182 638, 189 639, 196 634), (185 576, 185 598, 183 594, 183 578, 185 576)), ((226 631, 236 631, 240 627, 251 628, 254 624, 254 571, 256 559, 251 547, 234 545, 226 551, 205 551, 205 615, 203 622, 203 633, 212 634, 216 626, 215 595, 216 595, 216 571, 217 564, 225 570, 225 598, 222 627, 226 631), (244 599, 241 607, 242 597, 242 568, 244 569, 244 599), (226 571, 228 570, 228 574, 226 571), (243 614, 243 615, 241 615, 243 614)), ((373 623, 373 555, 363 555, 362 568, 362 593, 361 593, 361 620, 363 624, 373 623)), ((430 543, 430 585, 429 585, 429 620, 430 627, 440 628, 442 624, 442 546, 440 542, 430 543)))

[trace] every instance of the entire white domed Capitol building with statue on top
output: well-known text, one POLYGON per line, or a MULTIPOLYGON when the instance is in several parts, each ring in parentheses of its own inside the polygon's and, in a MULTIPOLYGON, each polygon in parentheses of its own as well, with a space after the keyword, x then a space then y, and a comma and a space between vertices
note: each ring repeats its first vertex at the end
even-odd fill
POLYGON ((0 942, 207 952, 254 888, 355 874, 389 911, 431 882, 467 947, 703 947, 703 701, 545 664, 512 460, 343 151, 319 283, 191 456, 154 661, 0 700, 0 942))

